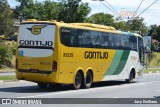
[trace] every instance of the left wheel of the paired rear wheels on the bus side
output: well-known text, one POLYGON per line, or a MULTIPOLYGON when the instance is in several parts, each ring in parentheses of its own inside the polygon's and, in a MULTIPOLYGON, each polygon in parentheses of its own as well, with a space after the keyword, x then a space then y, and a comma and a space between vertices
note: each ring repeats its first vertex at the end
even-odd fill
POLYGON ((80 72, 77 72, 74 79, 73 88, 79 89, 81 87, 81 84, 82 84, 82 75, 80 72))

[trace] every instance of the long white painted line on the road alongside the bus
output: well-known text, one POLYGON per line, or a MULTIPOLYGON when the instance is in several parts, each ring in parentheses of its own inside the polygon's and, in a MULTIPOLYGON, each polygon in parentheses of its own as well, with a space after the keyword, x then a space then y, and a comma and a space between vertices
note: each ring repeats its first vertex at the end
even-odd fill
POLYGON ((79 92, 92 92, 97 90, 104 90, 104 89, 112 89, 112 88, 121 88, 121 87, 130 87, 130 86, 137 86, 137 85, 146 85, 151 83, 160 83, 160 81, 151 81, 151 82, 144 82, 144 83, 133 83, 133 84, 124 84, 124 85, 118 85, 118 86, 110 86, 110 87, 98 87, 98 88, 90 88, 90 89, 80 89, 80 90, 69 90, 65 92, 51 92, 49 94, 40 94, 40 95, 33 95, 33 96, 24 96, 24 97, 17 97, 17 98, 35 98, 35 97, 44 97, 44 96, 52 96, 52 95, 63 95, 63 94, 69 94, 69 93, 79 93, 79 92))

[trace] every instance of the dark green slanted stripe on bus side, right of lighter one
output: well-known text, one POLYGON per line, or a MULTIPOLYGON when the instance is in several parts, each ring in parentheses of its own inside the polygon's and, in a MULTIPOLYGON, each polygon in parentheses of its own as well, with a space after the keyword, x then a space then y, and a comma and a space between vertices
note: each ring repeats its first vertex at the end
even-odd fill
POLYGON ((124 66, 126 65, 129 53, 130 53, 129 50, 124 50, 123 51, 121 60, 120 60, 120 62, 118 64, 118 67, 116 68, 116 71, 113 73, 113 75, 118 75, 118 74, 120 74, 122 72, 124 66))

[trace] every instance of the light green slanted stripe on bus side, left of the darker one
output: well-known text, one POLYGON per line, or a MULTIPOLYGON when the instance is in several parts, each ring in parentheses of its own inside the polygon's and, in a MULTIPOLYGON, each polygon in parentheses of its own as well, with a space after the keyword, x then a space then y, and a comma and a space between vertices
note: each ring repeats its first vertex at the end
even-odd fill
POLYGON ((116 50, 114 58, 113 58, 112 63, 111 63, 111 66, 110 66, 110 68, 108 69, 108 71, 106 72, 105 75, 112 75, 116 71, 116 69, 117 69, 117 67, 120 63, 122 55, 123 55, 122 50, 116 50))

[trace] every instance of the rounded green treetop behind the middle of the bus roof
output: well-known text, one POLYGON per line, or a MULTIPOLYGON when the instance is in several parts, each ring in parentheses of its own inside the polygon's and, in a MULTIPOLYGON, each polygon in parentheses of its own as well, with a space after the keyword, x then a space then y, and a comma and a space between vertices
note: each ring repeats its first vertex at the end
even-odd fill
POLYGON ((113 17, 114 16, 110 14, 96 13, 90 16, 87 19, 87 22, 95 23, 95 24, 102 24, 102 25, 107 25, 107 26, 113 26, 114 25, 113 17))

